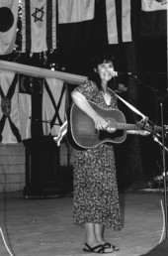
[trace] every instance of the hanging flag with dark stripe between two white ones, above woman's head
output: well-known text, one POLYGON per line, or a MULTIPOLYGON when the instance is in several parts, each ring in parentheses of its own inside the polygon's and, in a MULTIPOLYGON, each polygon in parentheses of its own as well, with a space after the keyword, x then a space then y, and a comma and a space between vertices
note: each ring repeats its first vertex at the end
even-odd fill
POLYGON ((109 44, 131 42, 137 19, 136 0, 106 0, 109 44))

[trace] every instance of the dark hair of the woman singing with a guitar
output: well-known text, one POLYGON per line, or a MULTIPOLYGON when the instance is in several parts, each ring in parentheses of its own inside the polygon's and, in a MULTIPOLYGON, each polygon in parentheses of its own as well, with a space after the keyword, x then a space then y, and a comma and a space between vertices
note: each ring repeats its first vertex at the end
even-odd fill
MULTIPOLYGON (((98 64, 109 63, 112 62, 114 64, 115 58, 109 51, 100 51, 97 55, 94 55, 91 62, 91 72, 89 73, 89 79, 96 82, 98 88, 101 88, 101 78, 100 75, 95 72, 95 68, 97 69, 98 64)), ((114 82, 111 79, 108 83, 108 86, 114 89, 114 82)))

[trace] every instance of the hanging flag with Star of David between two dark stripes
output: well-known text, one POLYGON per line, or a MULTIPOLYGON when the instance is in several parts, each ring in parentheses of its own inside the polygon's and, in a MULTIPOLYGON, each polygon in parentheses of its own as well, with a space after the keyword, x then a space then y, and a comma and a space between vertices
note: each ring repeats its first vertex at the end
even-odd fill
POLYGON ((22 52, 56 49, 56 1, 23 0, 22 52))

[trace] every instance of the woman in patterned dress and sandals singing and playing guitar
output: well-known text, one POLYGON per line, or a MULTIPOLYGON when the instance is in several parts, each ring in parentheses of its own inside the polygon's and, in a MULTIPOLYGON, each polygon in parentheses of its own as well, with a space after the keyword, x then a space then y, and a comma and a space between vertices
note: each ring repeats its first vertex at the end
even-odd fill
MULTIPOLYGON (((95 123, 97 130, 108 128, 89 101, 104 109, 117 109, 116 94, 108 87, 115 76, 112 56, 103 54, 94 62, 92 78, 76 87, 73 102, 95 123)), ((87 252, 112 253, 119 250, 105 239, 105 228, 121 228, 116 164, 112 144, 101 144, 86 150, 74 150, 74 204, 73 222, 85 227, 87 252)))

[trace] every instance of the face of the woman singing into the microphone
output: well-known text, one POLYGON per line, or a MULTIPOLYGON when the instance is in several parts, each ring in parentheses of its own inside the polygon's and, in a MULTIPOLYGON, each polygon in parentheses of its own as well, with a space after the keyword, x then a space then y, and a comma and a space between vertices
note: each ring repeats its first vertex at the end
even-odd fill
POLYGON ((97 72, 102 80, 109 81, 115 76, 114 64, 112 62, 98 64, 97 72))

